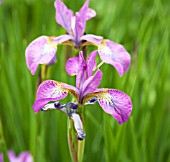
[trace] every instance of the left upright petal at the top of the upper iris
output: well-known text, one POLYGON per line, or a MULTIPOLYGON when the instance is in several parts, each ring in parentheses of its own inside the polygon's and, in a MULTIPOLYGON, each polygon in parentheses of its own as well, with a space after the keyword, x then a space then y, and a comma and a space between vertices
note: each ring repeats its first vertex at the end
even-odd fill
POLYGON ((57 23, 66 29, 69 34, 71 34, 71 18, 73 16, 73 11, 69 10, 61 0, 56 0, 54 6, 56 8, 57 23))

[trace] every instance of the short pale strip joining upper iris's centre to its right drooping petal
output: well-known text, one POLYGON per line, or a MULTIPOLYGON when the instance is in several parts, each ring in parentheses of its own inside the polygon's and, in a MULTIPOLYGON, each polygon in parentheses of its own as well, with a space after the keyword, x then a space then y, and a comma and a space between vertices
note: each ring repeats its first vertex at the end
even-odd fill
POLYGON ((93 34, 86 34, 86 35, 81 36, 80 40, 81 41, 86 40, 87 42, 90 42, 93 45, 97 46, 98 44, 102 43, 103 37, 96 36, 96 35, 93 35, 93 34))

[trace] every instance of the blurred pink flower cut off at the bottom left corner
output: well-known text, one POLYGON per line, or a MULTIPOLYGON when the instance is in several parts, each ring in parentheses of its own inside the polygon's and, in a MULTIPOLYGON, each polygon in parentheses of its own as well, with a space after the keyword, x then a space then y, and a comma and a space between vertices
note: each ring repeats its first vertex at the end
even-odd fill
MULTIPOLYGON (((22 152, 16 156, 13 151, 8 151, 8 158, 10 162, 33 162, 33 157, 28 151, 22 152)), ((3 162, 3 156, 0 154, 0 162, 3 162)))

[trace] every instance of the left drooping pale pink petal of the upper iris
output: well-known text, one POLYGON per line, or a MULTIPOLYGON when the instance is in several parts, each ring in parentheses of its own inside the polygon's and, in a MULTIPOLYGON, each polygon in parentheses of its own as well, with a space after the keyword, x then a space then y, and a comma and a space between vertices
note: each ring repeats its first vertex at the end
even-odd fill
POLYGON ((40 36, 33 40, 25 51, 26 63, 34 75, 38 64, 48 64, 54 58, 57 51, 57 44, 51 37, 40 36))

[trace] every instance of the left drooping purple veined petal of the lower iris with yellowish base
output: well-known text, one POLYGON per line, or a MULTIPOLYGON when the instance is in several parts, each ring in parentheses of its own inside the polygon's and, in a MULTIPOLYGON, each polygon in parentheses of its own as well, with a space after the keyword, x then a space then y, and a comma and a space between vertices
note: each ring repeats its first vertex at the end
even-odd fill
POLYGON ((68 84, 47 80, 42 82, 37 90, 36 101, 33 104, 35 112, 40 111, 48 102, 61 100, 65 98, 68 93, 73 95, 78 100, 78 90, 68 84))

